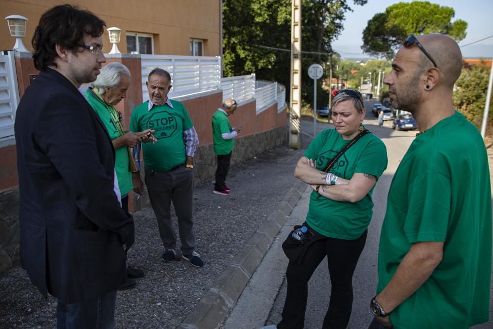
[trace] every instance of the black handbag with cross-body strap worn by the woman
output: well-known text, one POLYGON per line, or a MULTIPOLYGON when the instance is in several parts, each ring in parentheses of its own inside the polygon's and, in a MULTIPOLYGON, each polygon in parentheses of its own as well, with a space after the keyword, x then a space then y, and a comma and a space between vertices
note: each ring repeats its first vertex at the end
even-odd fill
MULTIPOLYGON (((344 152, 346 152, 346 150, 348 150, 348 148, 350 148, 361 137, 363 137, 364 135, 366 135, 368 133, 370 133, 369 130, 363 130, 358 135, 356 135, 356 137, 354 137, 351 142, 349 142, 346 146, 344 146, 343 149, 341 149, 339 151, 339 153, 337 153, 337 155, 334 156, 334 158, 330 161, 330 163, 325 167, 325 169, 323 171, 327 173, 330 170, 330 168, 334 165, 334 163, 336 163, 337 160, 339 160, 339 158, 344 154, 344 152)), ((296 229, 301 228, 301 225, 295 225, 293 227, 293 230, 287 235, 286 239, 282 243, 282 251, 284 252, 286 257, 289 260, 295 261, 297 264, 301 263, 301 261, 303 260, 303 257, 305 256, 308 248, 310 247, 310 245, 313 242, 326 237, 326 236, 318 233, 314 229, 312 229, 310 226, 308 226, 308 224, 306 222, 303 223, 303 226, 306 226, 308 228, 308 231, 306 233, 304 233, 303 240, 297 240, 293 237, 293 232, 296 229)))

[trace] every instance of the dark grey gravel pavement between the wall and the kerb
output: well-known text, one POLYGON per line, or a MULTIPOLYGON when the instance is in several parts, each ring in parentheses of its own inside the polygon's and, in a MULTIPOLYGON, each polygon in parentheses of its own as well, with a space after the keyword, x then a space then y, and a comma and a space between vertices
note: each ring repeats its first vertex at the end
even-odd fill
MULTIPOLYGON (((302 150, 280 146, 232 169, 227 177, 229 196, 213 194, 211 182, 195 188, 196 251, 205 261, 203 268, 185 260, 163 262, 152 209, 134 215, 136 243, 129 261, 142 268, 145 277, 137 279, 135 289, 118 292, 117 328, 176 328, 185 319, 296 183, 294 166, 310 142, 303 137, 302 150)), ((0 328, 54 327, 56 300, 51 296, 44 299, 26 271, 18 267, 0 277, 0 328)))

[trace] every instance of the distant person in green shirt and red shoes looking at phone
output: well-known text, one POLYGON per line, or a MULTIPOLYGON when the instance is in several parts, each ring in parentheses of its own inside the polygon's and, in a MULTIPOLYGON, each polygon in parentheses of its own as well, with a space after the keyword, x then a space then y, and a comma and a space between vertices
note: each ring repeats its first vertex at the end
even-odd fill
POLYGON ((222 103, 222 108, 217 109, 212 115, 212 141, 214 152, 217 155, 216 181, 212 192, 218 195, 229 195, 229 187, 224 183, 228 175, 231 162, 231 152, 235 147, 235 137, 243 127, 231 127, 228 116, 236 110, 237 103, 232 98, 227 98, 222 103))

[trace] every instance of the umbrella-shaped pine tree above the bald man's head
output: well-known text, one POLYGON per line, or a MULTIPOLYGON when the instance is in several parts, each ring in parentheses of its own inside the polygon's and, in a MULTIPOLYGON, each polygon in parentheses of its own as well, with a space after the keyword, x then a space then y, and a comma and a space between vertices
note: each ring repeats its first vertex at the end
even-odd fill
POLYGON ((452 23, 454 16, 453 8, 428 1, 395 3, 368 21, 361 49, 371 55, 392 58, 410 34, 447 34, 460 41, 466 36, 467 23, 460 19, 452 23))

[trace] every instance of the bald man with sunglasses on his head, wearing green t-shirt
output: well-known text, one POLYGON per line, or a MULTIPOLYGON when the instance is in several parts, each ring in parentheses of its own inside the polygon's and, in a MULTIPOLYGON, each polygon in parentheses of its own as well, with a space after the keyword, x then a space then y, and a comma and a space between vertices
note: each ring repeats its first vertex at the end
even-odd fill
POLYGON ((492 199, 485 144, 454 110, 462 56, 444 35, 406 38, 385 77, 392 106, 420 132, 388 192, 371 329, 488 322, 492 199))

